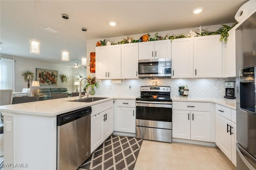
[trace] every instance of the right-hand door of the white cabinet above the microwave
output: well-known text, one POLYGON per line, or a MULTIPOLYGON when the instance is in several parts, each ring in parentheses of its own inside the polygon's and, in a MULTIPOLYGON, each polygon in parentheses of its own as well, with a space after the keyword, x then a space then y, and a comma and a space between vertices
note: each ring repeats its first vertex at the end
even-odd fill
POLYGON ((155 58, 171 58, 171 40, 159 40, 154 42, 155 58))

